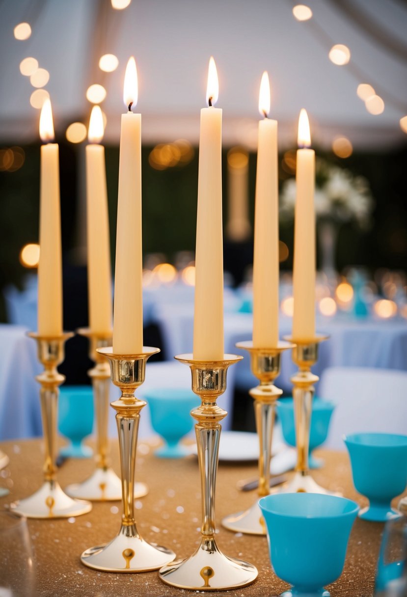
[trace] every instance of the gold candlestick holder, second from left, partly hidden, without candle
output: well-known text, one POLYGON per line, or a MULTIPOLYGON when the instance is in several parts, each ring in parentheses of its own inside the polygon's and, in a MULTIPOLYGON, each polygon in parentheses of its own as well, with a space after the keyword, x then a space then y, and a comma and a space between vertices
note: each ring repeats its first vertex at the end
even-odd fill
MULTIPOLYGON (((98 348, 110 346, 112 332, 101 334, 92 332, 89 328, 81 328, 78 330, 78 334, 89 338, 89 356, 95 363, 95 367, 88 371, 88 375, 92 380, 95 405, 96 467, 88 479, 82 483, 68 485, 65 491, 69 496, 91 501, 121 500, 122 482, 110 466, 110 442, 107 436, 110 365, 106 357, 97 352, 98 348)), ((149 490, 145 483, 135 483, 134 495, 136 498, 144 497, 147 493, 149 490)))

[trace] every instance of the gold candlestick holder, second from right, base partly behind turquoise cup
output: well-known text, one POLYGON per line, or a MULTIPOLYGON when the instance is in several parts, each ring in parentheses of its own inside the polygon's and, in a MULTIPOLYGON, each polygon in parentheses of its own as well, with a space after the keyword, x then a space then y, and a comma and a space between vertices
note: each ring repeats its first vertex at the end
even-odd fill
MULTIPOLYGON (((273 348, 256 348, 251 340, 236 344, 236 347, 248 350, 251 357, 252 373, 260 381, 260 385, 249 390, 249 394, 254 398, 254 414, 260 444, 258 457, 259 498, 268 496, 270 493, 270 461, 276 401, 283 393, 283 390, 276 387, 273 381, 280 374, 281 353, 293 346, 294 344, 289 342, 279 342, 273 348)), ((258 500, 248 510, 226 516, 222 524, 230 531, 250 535, 266 535, 266 525, 258 506, 258 500)))

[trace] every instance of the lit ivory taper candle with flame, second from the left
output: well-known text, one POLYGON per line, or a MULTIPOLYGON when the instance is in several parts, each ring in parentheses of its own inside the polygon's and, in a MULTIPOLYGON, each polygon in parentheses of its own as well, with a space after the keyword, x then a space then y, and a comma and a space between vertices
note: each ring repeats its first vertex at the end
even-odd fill
POLYGON ((108 334, 112 330, 112 273, 102 139, 103 116, 100 106, 94 106, 86 148, 89 325, 94 333, 108 334))

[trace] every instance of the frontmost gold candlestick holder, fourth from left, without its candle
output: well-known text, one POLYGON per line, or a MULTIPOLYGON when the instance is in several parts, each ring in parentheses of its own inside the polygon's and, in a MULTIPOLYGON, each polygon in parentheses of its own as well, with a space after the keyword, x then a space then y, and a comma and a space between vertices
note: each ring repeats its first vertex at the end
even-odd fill
POLYGON ((201 406, 191 411, 193 418, 198 421, 195 431, 202 489, 201 544, 189 558, 161 568, 159 577, 166 584, 196 591, 243 587, 257 578, 257 568, 248 562, 224 555, 215 541, 215 483, 220 421, 227 415, 216 401, 226 390, 227 368, 242 357, 224 355, 220 361, 199 361, 187 354, 175 358, 191 368, 192 390, 202 402, 201 406))

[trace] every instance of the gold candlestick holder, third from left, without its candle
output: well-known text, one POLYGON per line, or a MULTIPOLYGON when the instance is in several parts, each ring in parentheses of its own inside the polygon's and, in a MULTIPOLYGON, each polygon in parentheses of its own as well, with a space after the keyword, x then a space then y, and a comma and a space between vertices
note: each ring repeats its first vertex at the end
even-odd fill
POLYGON ((122 524, 116 537, 107 543, 87 549, 81 555, 82 564, 105 572, 147 572, 158 570, 171 562, 175 553, 161 546, 153 546, 140 536, 134 519, 134 469, 138 423, 141 408, 146 402, 134 396, 144 381, 146 361, 159 352, 158 348, 143 346, 138 355, 117 355, 111 346, 97 349, 110 361, 112 381, 121 389, 121 398, 112 402, 118 424, 122 471, 122 524))

